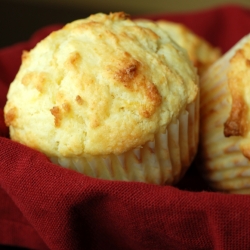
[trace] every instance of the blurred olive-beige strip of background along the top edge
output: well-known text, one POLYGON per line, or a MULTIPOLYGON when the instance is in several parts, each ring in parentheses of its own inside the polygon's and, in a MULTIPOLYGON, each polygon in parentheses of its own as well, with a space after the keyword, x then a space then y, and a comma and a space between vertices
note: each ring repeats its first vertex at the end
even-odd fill
POLYGON ((64 6, 95 12, 126 11, 131 14, 162 13, 162 12, 186 12, 195 11, 214 6, 234 3, 250 7, 249 0, 15 0, 17 2, 29 2, 64 6))

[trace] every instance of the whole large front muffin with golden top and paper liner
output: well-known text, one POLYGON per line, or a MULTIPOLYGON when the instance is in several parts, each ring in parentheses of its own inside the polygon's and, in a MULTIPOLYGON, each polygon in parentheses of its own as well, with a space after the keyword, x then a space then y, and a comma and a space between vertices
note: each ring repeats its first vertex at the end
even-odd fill
POLYGON ((186 51, 123 12, 76 20, 24 51, 7 99, 12 140, 91 177, 174 184, 197 151, 186 51))

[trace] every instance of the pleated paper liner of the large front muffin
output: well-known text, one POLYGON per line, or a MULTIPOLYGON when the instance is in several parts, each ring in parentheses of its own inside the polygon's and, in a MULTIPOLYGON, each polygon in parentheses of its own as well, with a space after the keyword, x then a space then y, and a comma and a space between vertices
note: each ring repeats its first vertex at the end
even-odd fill
POLYGON ((198 145, 199 96, 154 141, 123 154, 50 157, 55 164, 106 180, 175 184, 190 166, 198 145))

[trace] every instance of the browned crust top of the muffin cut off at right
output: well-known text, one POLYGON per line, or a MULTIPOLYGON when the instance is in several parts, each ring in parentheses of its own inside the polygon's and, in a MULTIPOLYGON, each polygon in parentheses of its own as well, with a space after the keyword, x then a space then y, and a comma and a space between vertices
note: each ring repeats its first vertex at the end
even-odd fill
POLYGON ((245 41, 241 48, 235 51, 230 60, 228 87, 232 104, 229 117, 224 124, 224 134, 241 136, 242 153, 250 159, 249 146, 249 81, 250 81, 250 41, 245 41))

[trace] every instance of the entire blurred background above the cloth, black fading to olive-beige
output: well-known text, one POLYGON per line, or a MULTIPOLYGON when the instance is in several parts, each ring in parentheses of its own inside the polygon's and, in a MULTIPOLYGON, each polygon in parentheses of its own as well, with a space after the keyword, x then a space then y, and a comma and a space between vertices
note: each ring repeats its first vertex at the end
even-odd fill
POLYGON ((65 24, 96 12, 132 16, 192 12, 226 3, 250 7, 249 0, 0 0, 0 48, 26 41, 39 28, 65 24))

